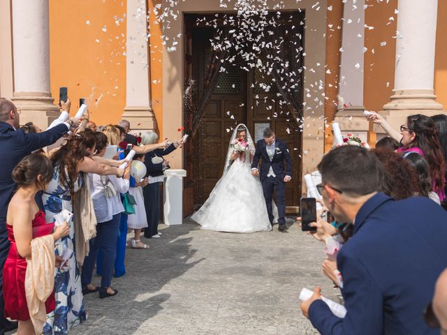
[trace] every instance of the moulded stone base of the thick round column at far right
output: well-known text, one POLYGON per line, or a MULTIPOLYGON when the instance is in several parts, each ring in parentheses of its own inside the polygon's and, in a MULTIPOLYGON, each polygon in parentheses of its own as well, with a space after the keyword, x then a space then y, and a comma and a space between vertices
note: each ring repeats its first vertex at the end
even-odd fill
MULTIPOLYGON (((436 114, 446 114, 433 93, 432 89, 397 90, 391 96, 390 103, 383 106, 383 111, 380 114, 396 130, 406 123, 406 117, 409 115, 423 114, 432 117, 436 114)), ((374 124, 374 133, 378 134, 377 140, 386 136, 386 131, 377 124, 374 124)))

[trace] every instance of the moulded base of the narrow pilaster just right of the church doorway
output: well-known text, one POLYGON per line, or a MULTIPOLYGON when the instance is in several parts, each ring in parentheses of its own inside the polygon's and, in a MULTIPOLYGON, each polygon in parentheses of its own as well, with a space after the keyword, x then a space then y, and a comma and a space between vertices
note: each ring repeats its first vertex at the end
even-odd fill
POLYGON ((337 110, 334 122, 338 122, 343 135, 356 134, 362 141, 367 142, 369 122, 363 112, 365 112, 365 106, 349 106, 337 110))

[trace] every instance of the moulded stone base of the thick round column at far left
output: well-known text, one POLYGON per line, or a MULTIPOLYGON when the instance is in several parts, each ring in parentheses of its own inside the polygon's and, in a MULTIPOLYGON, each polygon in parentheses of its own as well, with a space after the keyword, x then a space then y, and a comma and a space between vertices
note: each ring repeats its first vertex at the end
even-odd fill
POLYGON ((59 107, 54 98, 46 92, 14 92, 11 98, 17 110, 20 110, 20 124, 33 122, 45 130, 59 117, 59 107))

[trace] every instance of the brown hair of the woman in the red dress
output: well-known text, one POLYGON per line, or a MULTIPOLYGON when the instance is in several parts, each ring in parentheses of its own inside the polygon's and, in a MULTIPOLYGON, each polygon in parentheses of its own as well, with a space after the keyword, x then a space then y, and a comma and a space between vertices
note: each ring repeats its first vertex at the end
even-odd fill
POLYGON ((31 154, 15 166, 12 177, 19 187, 36 184, 38 188, 43 190, 53 177, 53 166, 46 156, 31 154), (42 175, 41 181, 37 180, 39 174, 42 175))

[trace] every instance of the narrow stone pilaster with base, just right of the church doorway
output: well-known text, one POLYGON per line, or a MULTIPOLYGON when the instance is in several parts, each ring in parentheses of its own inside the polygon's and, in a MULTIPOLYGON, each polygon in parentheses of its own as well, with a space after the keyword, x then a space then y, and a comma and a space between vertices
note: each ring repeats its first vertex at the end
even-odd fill
POLYGON ((369 124, 363 114, 364 6, 365 0, 344 3, 339 105, 334 121, 340 124, 342 133, 358 134, 366 142, 369 124))

